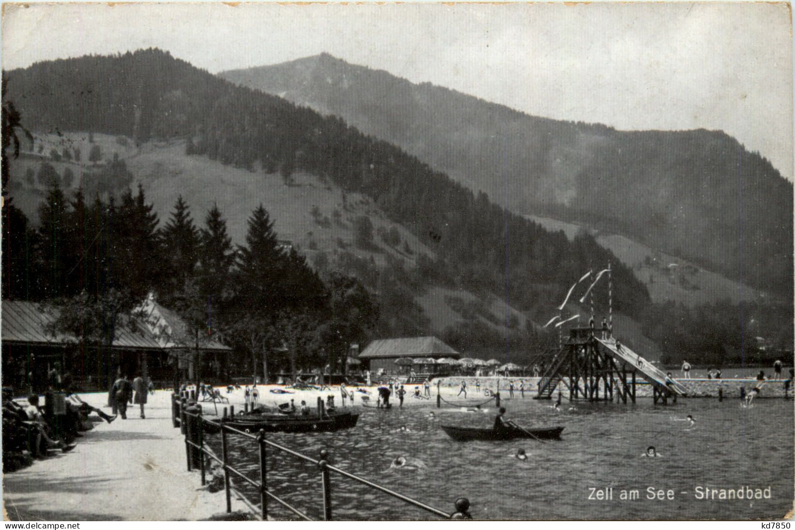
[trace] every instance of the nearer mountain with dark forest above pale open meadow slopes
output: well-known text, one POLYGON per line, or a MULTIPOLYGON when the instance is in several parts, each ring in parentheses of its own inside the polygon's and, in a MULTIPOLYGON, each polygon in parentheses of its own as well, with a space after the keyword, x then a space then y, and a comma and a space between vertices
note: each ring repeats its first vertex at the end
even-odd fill
POLYGON ((262 201, 281 237, 316 267, 359 276, 396 318, 428 307, 425 318, 436 323, 416 318, 413 329, 457 323, 451 333, 463 331, 469 345, 532 335, 524 315, 545 317, 550 299, 606 263, 616 310, 639 314, 649 303, 631 271, 590 236, 547 232, 339 118, 235 86, 169 53, 47 61, 4 78, 5 97, 37 136, 14 162, 9 189, 33 221, 37 193, 52 185, 83 185, 91 197, 139 181, 149 197, 162 197, 161 219, 180 193, 199 219, 218 201, 239 238, 251 205, 262 201), (433 308, 442 305, 460 316, 440 318, 433 308))

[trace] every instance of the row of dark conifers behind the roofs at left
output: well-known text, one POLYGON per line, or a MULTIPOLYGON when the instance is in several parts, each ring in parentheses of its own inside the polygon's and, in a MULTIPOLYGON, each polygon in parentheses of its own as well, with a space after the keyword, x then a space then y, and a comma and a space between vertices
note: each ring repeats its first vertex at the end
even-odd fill
POLYGON ((281 247, 260 205, 235 246, 217 205, 197 227, 182 197, 160 223, 141 186, 117 200, 82 189, 49 189, 33 228, 13 201, 3 208, 2 297, 58 311, 52 333, 84 346, 83 363, 110 370, 108 345, 149 293, 187 323, 177 344, 213 339, 231 345, 227 375, 303 366, 343 370, 348 346, 365 341, 378 306, 355 278, 321 279, 303 256, 281 247), (198 338, 197 338, 198 337, 198 338), (257 368, 262 362, 262 368, 257 368), (274 365, 275 363, 275 365, 274 365))

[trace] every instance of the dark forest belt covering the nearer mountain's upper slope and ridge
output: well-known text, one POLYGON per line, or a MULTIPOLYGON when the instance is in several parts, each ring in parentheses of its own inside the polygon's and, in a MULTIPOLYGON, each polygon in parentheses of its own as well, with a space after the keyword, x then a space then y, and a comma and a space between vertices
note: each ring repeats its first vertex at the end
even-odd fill
POLYGON ((570 243, 341 119, 236 87, 168 53, 56 60, 6 76, 7 97, 30 130, 125 134, 136 143, 188 138, 188 154, 263 177, 289 180, 302 170, 363 193, 432 248, 434 274, 520 309, 564 294, 583 271, 608 262, 619 309, 637 313, 648 303, 642 284, 590 236, 570 243))

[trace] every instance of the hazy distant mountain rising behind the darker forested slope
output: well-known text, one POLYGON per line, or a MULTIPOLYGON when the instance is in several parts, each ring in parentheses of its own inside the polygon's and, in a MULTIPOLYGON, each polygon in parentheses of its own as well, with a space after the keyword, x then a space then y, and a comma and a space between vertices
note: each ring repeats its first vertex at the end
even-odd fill
POLYGON ((339 115, 513 212, 615 232, 785 298, 793 291, 793 185, 722 131, 545 119, 328 54, 219 75, 339 115))

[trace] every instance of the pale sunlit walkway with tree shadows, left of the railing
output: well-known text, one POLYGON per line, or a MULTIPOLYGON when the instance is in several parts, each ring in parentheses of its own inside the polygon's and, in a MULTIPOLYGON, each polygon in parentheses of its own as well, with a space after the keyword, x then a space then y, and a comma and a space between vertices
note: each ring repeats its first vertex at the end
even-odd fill
MULTIPOLYGON (((81 396, 101 407, 107 395, 81 396)), ((103 407, 104 411, 110 410, 103 407)), ((180 430, 171 425, 168 392, 149 396, 126 420, 96 423, 68 454, 37 460, 3 476, 10 520, 201 520, 225 511, 223 490, 208 493, 188 473, 180 430)), ((246 511, 233 499, 233 509, 246 511)))

